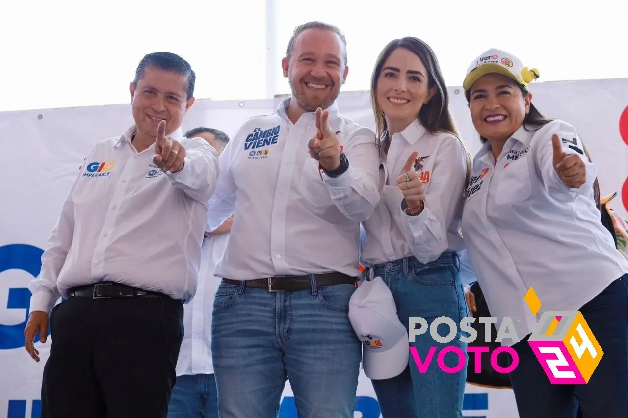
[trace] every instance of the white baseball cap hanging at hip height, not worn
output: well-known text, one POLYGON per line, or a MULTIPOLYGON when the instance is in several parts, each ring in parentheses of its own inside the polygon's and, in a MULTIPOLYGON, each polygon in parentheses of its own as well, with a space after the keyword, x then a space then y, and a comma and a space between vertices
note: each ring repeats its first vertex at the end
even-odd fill
POLYGON ((393 294, 381 277, 362 281, 349 301, 349 321, 362 341, 364 373, 373 380, 398 376, 408 367, 408 331, 393 294))

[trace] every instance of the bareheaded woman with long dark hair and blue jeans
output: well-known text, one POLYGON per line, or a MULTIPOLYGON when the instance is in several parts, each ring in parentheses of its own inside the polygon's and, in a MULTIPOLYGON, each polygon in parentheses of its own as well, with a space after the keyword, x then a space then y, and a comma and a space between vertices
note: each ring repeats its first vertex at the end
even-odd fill
MULTIPOLYGON (((377 58, 371 102, 381 140, 383 199, 364 223, 362 261, 391 290, 401 323, 441 316, 455 323, 468 316, 456 253, 462 195, 470 154, 448 108, 447 85, 435 53, 417 38, 391 41, 377 58)), ((447 335, 443 325, 440 335, 447 335)), ((466 355, 460 331, 444 345, 418 336, 411 343, 425 359, 430 347, 456 345, 466 355)), ((455 353, 445 364, 465 362, 455 353)), ((369 370, 365 366, 369 376, 369 370)), ((446 373, 432 362, 420 373, 414 360, 392 378, 369 376, 384 418, 462 417, 466 367, 446 373)))

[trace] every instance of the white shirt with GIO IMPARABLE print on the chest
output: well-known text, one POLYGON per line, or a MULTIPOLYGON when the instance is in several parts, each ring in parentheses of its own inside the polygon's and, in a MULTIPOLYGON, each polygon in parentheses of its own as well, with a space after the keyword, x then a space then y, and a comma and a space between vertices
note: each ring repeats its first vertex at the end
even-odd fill
POLYGON ((179 129, 171 137, 185 147, 185 165, 163 173, 154 144, 141 153, 131 144, 135 131, 97 142, 85 159, 28 286, 31 312, 50 313, 72 287, 100 281, 194 296, 218 153, 179 129))

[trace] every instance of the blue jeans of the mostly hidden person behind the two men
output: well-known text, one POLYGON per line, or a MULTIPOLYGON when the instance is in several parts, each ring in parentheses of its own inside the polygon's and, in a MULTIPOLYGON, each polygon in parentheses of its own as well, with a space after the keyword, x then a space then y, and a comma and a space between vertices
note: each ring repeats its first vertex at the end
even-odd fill
POLYGON ((214 375, 176 377, 168 418, 218 418, 218 394, 214 375))

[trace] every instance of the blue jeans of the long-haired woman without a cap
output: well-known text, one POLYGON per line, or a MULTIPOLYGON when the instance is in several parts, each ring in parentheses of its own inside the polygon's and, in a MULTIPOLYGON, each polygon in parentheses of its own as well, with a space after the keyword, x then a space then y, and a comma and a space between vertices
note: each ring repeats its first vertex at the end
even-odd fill
MULTIPOLYGON (((429 264, 421 264, 415 257, 374 265, 375 276, 380 276, 391 290, 397 305, 399 320, 408 329, 409 318, 425 318, 428 324, 439 316, 447 316, 458 325, 468 314, 463 286, 460 282, 458 256, 445 252, 429 264)), ((408 330, 409 332, 409 330, 408 330)), ((441 324, 438 334, 446 336, 450 328, 441 324)), ((425 362, 430 347, 436 352, 426 373, 420 373, 409 358, 408 368, 386 380, 371 380, 384 418, 462 418, 462 401, 467 385, 467 344, 460 342, 466 336, 458 326, 457 335, 447 344, 434 341, 429 332, 416 336, 410 346, 416 347, 425 362), (456 346, 464 353, 464 367, 458 373, 446 373, 438 368, 436 355, 446 346, 456 346)), ((445 365, 456 367, 460 358, 447 353, 445 365)))

